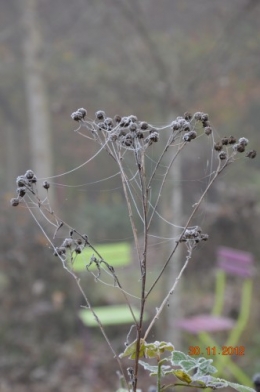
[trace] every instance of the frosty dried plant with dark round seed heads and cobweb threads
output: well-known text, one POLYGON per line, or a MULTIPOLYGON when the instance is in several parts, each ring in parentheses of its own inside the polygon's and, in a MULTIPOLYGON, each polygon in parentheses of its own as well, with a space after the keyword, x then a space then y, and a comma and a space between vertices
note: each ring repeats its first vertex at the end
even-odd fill
MULTIPOLYGON (((59 177, 59 175, 50 179, 42 179, 43 182, 40 184, 35 173, 32 170, 27 170, 25 174, 17 178, 17 196, 11 199, 11 205, 14 207, 18 205, 26 206, 40 230, 47 238, 53 249, 54 256, 60 259, 63 268, 75 279, 84 297, 86 309, 92 312, 101 333, 111 349, 113 357, 118 362, 122 379, 124 380, 120 391, 137 390, 138 369, 140 366, 148 370, 150 374, 156 375, 158 392, 177 385, 193 386, 196 388, 209 387, 212 389, 223 388, 229 385, 239 391, 250 390, 249 387, 242 387, 238 384, 229 383, 223 379, 213 377, 212 374, 216 372, 216 369, 211 365, 211 360, 189 357, 180 351, 176 351, 172 343, 158 341, 153 343, 147 342, 151 328, 160 317, 170 296, 174 293, 175 287, 191 259, 194 248, 200 242, 208 240, 208 234, 204 233, 203 229, 195 221, 196 212, 217 177, 247 149, 248 140, 245 137, 236 140, 233 136, 215 140, 209 116, 202 112, 197 112, 194 115, 185 113, 184 116, 177 117, 174 121, 163 127, 155 127, 148 122, 140 121, 134 115, 125 117, 115 115, 114 118, 110 118, 102 110, 96 112, 94 120, 87 117, 87 111, 83 108, 72 113, 71 117, 78 123, 78 128, 75 130, 75 133, 87 140, 92 140, 100 146, 97 153, 80 165, 80 167, 83 167, 97 157, 101 151, 106 151, 118 166, 118 174, 121 176, 122 188, 135 243, 136 260, 133 262, 139 268, 139 293, 128 293, 124 290, 115 268, 94 247, 89 233, 87 235, 71 227, 52 210, 48 192, 50 186, 53 185, 51 179, 59 177), (161 140, 165 140, 162 134, 168 135, 166 143, 161 142, 161 140), (210 145, 211 164, 207 176, 207 184, 199 199, 193 204, 186 222, 179 222, 179 226, 175 226, 173 222, 167 222, 160 214, 158 209, 160 198, 174 162, 179 159, 184 149, 192 148, 195 140, 201 141, 203 138, 208 138, 210 141, 208 145, 210 145), (154 161, 150 156, 150 151, 153 150, 155 144, 160 143, 162 143, 160 154, 158 159, 154 161), (167 158, 167 161, 165 158, 167 158), (147 169, 147 165, 149 165, 149 170, 147 169), (44 198, 39 196, 39 187, 43 187, 46 192, 44 198), (156 193, 155 196, 153 195, 153 198, 151 196, 152 191, 156 193), (171 238, 173 246, 170 254, 162 262, 160 272, 154 282, 148 287, 148 237, 151 234, 152 222, 156 217, 164 220, 166 224, 175 226, 179 233, 176 238, 171 238), (43 220, 46 221, 47 226, 42 223, 43 220), (142 244, 139 241, 140 229, 138 232, 140 222, 142 226, 142 244), (67 231, 67 236, 58 242, 57 233, 60 233, 64 229, 67 231), (166 267, 170 262, 173 262, 176 249, 180 246, 186 247, 183 266, 162 303, 157 304, 156 313, 145 329, 144 312, 147 299, 154 287, 160 284, 166 267), (110 286, 115 287, 121 292, 133 317, 133 325, 126 339, 127 344, 125 350, 120 355, 113 348, 102 322, 92 307, 88 293, 82 288, 80 276, 73 267, 77 256, 85 248, 91 248, 93 251, 91 259, 86 263, 86 268, 89 273, 94 276, 97 282, 102 284, 102 273, 105 271, 111 279, 110 286), (96 272, 90 269, 91 265, 95 266, 94 271, 96 272), (139 298, 138 317, 133 312, 131 296, 139 298), (134 329, 136 332, 135 339, 129 343, 130 333, 132 335, 134 329), (133 360, 133 366, 128 367, 127 370, 124 369, 124 357, 133 360), (150 365, 144 362, 142 358, 155 358, 156 365, 150 365), (179 369, 176 369, 176 366, 179 369), (193 375, 190 374, 191 371, 193 375), (162 385, 161 379, 165 375, 172 375, 173 381, 170 384, 162 385)), ((256 152, 254 150, 247 151, 246 156, 248 158, 254 158, 256 152)), ((70 173, 77 169, 71 170, 70 173)), ((62 175, 64 174, 66 173, 62 175)), ((159 236, 157 237, 159 238, 159 236)))

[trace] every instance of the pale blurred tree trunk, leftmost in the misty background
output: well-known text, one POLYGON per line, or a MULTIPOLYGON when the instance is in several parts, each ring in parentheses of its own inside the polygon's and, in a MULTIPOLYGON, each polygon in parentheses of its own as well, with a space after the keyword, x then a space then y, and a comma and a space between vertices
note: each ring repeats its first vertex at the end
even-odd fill
MULTIPOLYGON (((43 76, 42 38, 37 18, 37 0, 19 0, 23 18, 31 169, 38 179, 52 174, 52 142, 48 98, 43 76)), ((41 187, 39 187, 41 189, 41 187)), ((46 195, 42 193, 40 197, 46 195)))

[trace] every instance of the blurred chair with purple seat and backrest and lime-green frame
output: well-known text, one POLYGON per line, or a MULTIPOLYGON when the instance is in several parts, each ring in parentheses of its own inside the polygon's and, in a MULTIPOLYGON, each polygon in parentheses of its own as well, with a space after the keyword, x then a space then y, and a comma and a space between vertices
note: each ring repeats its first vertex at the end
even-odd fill
POLYGON ((251 253, 219 247, 217 250, 215 303, 211 314, 196 315, 177 322, 178 328, 190 334, 197 335, 198 344, 196 345, 200 348, 201 353, 204 351, 206 354, 206 347, 215 347, 214 351, 217 355, 214 356, 214 359, 218 362, 217 369, 220 375, 226 366, 237 381, 245 385, 251 385, 250 378, 232 361, 231 355, 222 355, 222 349, 218 347, 218 344, 211 335, 219 331, 227 331, 228 338, 221 346, 229 347, 230 352, 232 350, 238 351, 239 347, 240 351, 243 351, 243 346, 239 344, 239 339, 249 319, 252 298, 252 276, 254 274, 253 264, 254 258, 251 253), (236 320, 223 315, 228 276, 237 277, 241 280, 240 307, 236 320))

